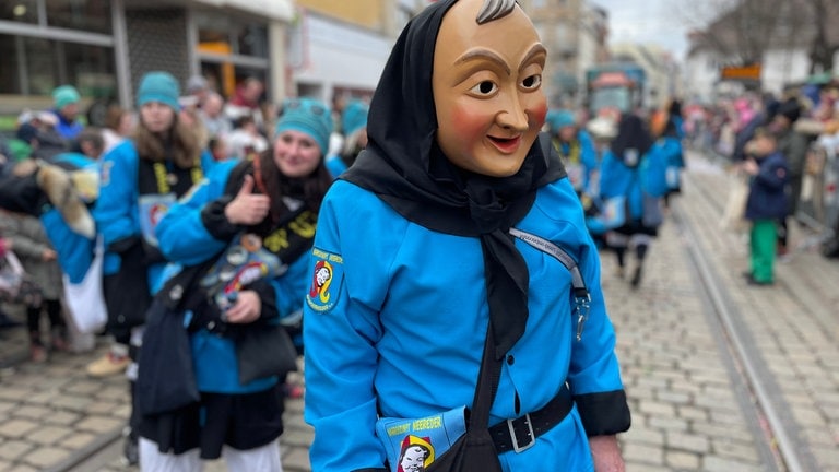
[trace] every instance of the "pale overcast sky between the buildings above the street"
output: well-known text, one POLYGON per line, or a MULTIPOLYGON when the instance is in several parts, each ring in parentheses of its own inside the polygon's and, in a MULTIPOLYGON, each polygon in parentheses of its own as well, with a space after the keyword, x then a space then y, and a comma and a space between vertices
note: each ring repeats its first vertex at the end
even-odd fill
POLYGON ((590 0, 608 11, 610 43, 657 44, 677 60, 687 52, 690 22, 698 25, 696 1, 590 0))

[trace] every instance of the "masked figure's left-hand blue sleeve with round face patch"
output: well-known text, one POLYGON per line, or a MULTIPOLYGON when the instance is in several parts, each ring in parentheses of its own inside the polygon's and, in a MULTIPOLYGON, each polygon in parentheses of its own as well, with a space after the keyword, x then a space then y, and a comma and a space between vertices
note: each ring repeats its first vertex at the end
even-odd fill
POLYGON ((307 290, 304 306, 304 417, 315 428, 309 457, 312 470, 320 472, 379 470, 386 460, 375 434, 374 378, 376 344, 381 335, 378 310, 386 290, 381 287, 389 280, 387 260, 392 253, 386 243, 377 244, 375 258, 361 256, 363 248, 369 247, 369 241, 364 241, 366 233, 348 225, 368 221, 361 219, 370 216, 365 210, 370 204, 359 201, 357 192, 335 192, 346 186, 339 180, 327 194, 307 278, 311 287, 315 268, 329 261, 333 269, 331 287, 335 290, 322 297, 307 290))

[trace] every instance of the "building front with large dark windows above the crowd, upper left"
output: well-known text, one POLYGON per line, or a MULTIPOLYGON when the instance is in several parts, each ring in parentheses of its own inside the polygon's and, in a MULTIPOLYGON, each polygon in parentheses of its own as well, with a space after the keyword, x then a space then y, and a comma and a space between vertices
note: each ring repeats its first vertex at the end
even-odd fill
POLYGON ((257 76, 270 99, 286 90, 291 0, 9 0, 0 5, 0 129, 21 110, 51 106, 72 84, 82 105, 132 107, 142 74, 166 70, 181 83, 206 76, 229 94, 257 76))

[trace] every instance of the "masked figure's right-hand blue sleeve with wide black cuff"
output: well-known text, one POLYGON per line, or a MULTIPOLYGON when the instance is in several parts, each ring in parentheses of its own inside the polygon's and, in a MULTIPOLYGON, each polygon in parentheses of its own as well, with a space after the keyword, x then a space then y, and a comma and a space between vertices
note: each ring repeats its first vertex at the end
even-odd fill
POLYGON ((615 331, 600 285, 600 256, 587 234, 581 238, 579 266, 591 295, 591 307, 582 341, 572 344, 568 381, 586 433, 613 435, 629 428, 629 405, 615 355, 615 331))

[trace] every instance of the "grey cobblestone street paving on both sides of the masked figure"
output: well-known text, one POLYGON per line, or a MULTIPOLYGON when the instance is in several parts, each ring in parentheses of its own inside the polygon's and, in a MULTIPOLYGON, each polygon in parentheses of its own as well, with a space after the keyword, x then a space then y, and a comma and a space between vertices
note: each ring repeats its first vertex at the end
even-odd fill
MULTIPOLYGON (((718 223, 725 174, 697 154, 688 157, 684 193, 651 247, 640 288, 633 291, 617 276, 612 253, 602 255, 603 287, 633 409, 633 427, 621 436, 627 469, 777 470, 775 450, 765 446, 764 421, 753 413, 754 398, 692 269, 688 252, 698 248, 748 327, 751 349, 795 426, 812 465, 807 470, 839 471, 839 263, 807 247, 807 234, 795 227, 797 250, 777 266, 776 286, 746 285, 740 275, 748 261, 745 239, 718 223), (696 231, 696 239, 676 217, 696 231)), ((0 331, 0 471, 64 470, 119 435, 128 414, 127 384, 119 376, 84 374, 84 366, 105 351, 104 339, 93 351, 56 354, 38 365, 19 362, 25 357, 22 331, 0 331)), ((311 429, 302 410, 303 400, 287 402, 280 442, 288 472, 310 470, 311 429)), ((120 447, 117 441, 73 471, 135 471, 120 464, 120 447)), ((223 461, 206 468, 225 470, 223 461)))

